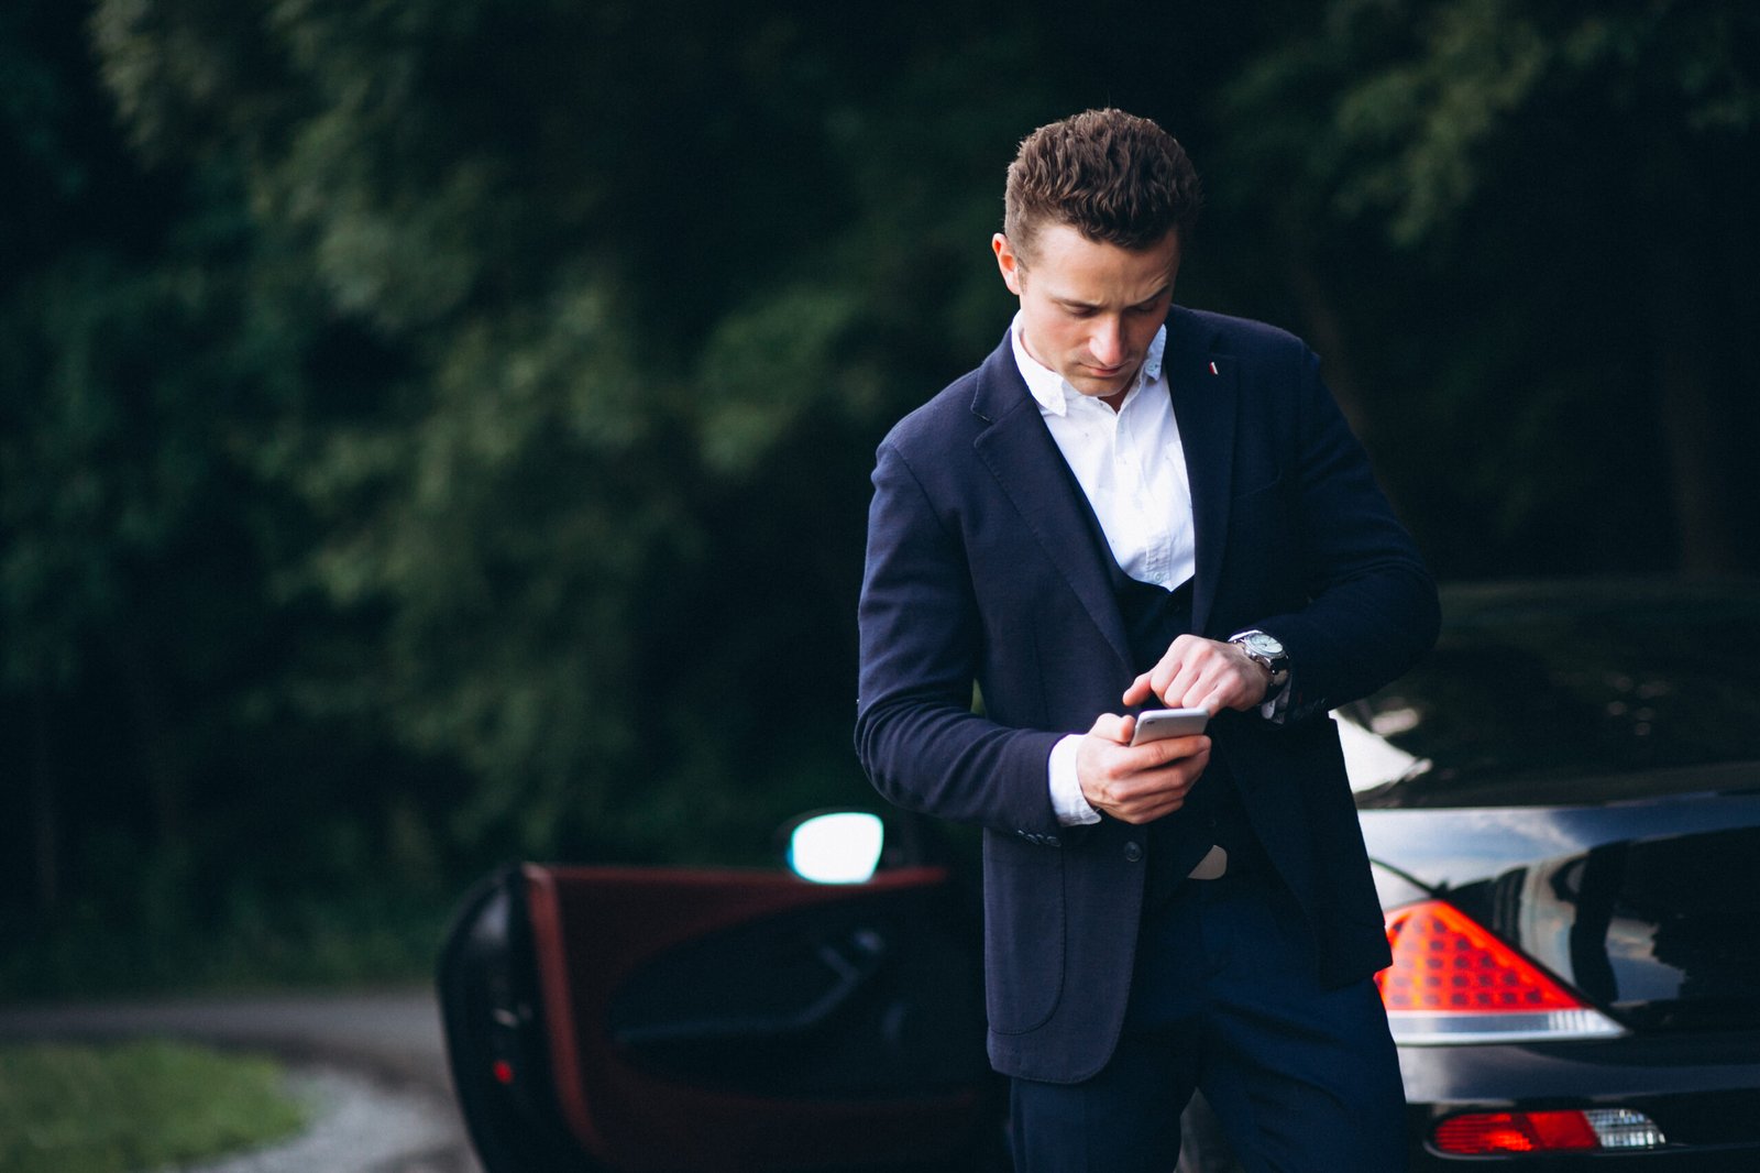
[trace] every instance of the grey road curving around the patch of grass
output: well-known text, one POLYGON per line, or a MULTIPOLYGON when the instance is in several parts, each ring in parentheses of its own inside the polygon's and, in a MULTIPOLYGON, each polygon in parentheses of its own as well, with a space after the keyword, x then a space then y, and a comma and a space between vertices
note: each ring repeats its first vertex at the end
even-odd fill
POLYGON ((428 990, 0 1007, 0 1039, 199 1039, 294 1067, 315 1122, 202 1173, 480 1173, 428 990))

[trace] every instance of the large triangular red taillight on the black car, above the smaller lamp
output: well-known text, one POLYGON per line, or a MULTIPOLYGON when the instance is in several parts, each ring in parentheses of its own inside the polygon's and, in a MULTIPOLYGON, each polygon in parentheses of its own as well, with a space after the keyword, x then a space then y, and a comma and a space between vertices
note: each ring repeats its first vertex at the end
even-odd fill
POLYGON ((1443 900, 1387 914, 1394 963, 1375 976, 1394 1041, 1514 1043, 1624 1034, 1443 900))

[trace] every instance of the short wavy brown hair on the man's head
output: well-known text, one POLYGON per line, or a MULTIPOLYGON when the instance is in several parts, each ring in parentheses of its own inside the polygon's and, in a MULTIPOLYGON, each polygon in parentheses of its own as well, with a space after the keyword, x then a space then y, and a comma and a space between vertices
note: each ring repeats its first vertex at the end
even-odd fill
POLYGON ((1172 229, 1190 236, 1202 204, 1199 174, 1174 136, 1121 109, 1089 109, 1021 141, 1001 231, 1021 255, 1047 222, 1140 250, 1172 229))

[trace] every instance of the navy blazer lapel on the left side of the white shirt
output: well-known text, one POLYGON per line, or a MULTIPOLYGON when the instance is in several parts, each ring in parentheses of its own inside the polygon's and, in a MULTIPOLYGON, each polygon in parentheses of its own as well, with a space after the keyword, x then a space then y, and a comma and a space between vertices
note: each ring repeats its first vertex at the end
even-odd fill
POLYGON ((980 368, 972 412, 989 423, 972 442, 979 460, 1128 669, 1130 641, 1105 571, 1109 555, 1095 548, 1088 504, 1038 417, 1007 336, 980 368))

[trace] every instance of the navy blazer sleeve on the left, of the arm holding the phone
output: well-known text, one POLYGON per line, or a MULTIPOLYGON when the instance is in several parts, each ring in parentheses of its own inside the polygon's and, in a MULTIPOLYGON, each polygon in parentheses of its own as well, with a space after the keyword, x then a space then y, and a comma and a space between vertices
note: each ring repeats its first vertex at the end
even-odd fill
POLYGON ((859 604, 855 752, 892 803, 1054 845, 1047 759, 1061 734, 973 712, 982 657, 966 553, 910 461, 882 444, 859 604))

